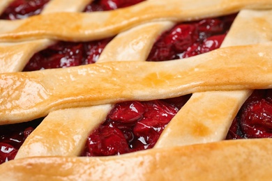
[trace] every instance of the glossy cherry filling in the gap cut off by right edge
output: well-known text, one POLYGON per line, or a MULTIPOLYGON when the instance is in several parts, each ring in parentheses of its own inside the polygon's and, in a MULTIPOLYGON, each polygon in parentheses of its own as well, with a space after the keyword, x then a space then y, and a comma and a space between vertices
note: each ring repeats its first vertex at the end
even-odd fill
POLYGON ((272 138, 272 90, 255 90, 229 128, 227 139, 272 138))

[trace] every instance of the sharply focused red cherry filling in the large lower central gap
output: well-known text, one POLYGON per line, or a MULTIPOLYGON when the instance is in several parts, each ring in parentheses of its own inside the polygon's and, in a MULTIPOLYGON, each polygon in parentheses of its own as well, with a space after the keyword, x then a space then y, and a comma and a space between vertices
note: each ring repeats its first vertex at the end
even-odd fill
POLYGON ((89 135, 82 156, 120 155, 153 148, 160 134, 190 95, 116 104, 105 123, 89 135))

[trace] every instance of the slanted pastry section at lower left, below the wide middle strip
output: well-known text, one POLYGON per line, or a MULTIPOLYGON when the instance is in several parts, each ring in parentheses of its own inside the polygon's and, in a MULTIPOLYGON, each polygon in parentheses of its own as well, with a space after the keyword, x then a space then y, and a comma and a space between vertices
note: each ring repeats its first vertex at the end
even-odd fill
POLYGON ((100 125, 111 104, 52 111, 27 137, 15 159, 33 156, 80 155, 90 130, 100 125))

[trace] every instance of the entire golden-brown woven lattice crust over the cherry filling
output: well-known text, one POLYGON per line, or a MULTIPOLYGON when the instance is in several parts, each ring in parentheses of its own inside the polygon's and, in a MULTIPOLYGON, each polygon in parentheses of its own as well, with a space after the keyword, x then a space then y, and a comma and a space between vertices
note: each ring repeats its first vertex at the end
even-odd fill
MULTIPOLYGON (((63 8, 63 11, 80 10, 87 1, 77 1, 77 3, 78 8, 70 10, 69 7, 66 7, 63 8)), ((0 51, 5 52, 6 55, 3 56, 3 58, 6 58, 4 60, 6 62, 13 60, 13 63, 10 63, 7 69, 0 68, 0 72, 22 70, 32 54, 54 42, 49 39, 32 41, 33 37, 68 40, 66 33, 61 32, 60 29, 55 34, 52 33, 51 30, 55 28, 54 25, 48 31, 47 29, 45 31, 39 30, 45 27, 38 29, 33 27, 32 29, 31 24, 37 22, 38 19, 50 21, 50 18, 55 16, 58 21, 63 21, 65 20, 62 19, 64 16, 65 18, 88 17, 90 19, 84 19, 84 24, 89 23, 91 26, 98 26, 96 30, 92 28, 90 31, 84 31, 81 28, 88 27, 79 25, 78 31, 75 31, 70 36, 72 39, 69 40, 82 40, 82 36, 80 36, 82 32, 86 36, 84 40, 105 38, 116 35, 131 26, 142 24, 116 36, 107 45, 96 65, 84 65, 77 68, 66 68, 65 70, 0 74, 1 125, 32 120, 49 113, 43 123, 22 145, 16 160, 0 166, 1 178, 3 175, 3 179, 27 179, 31 177, 33 180, 114 180, 120 178, 134 178, 135 180, 170 180, 174 178, 250 180, 251 178, 260 178, 261 180, 269 180, 271 168, 271 160, 269 160, 271 150, 269 144, 271 141, 269 139, 220 140, 225 139, 236 112, 250 95, 250 91, 226 90, 270 88, 272 85, 272 56, 269 51, 272 44, 268 42, 271 40, 271 35, 268 32, 272 27, 269 19, 270 10, 260 12, 242 10, 222 44, 222 47, 227 48, 183 61, 168 61, 167 63, 134 61, 144 61, 156 37, 173 26, 172 22, 144 22, 157 21, 158 19, 193 20, 234 13, 242 8, 269 9, 272 6, 272 1, 214 2, 206 0, 188 3, 188 1, 171 0, 171 2, 167 1, 167 6, 165 6, 165 3, 146 1, 130 8, 103 13, 52 13, 57 8, 51 9, 49 7, 61 4, 61 1, 55 0, 50 2, 51 5, 47 5, 43 15, 15 22, 0 21, 0 24, 8 24, 8 26, 5 25, 5 29, 0 30, 1 41, 28 40, 27 42, 1 43, 0 51), (53 6, 53 4, 55 5, 53 6), (151 6, 154 8, 150 8, 151 6), (51 12, 47 12, 50 9, 51 12), (160 13, 158 13, 158 10, 160 10, 160 13), (123 16, 124 19, 121 19, 119 13, 124 12, 127 13, 127 16, 123 16), (140 14, 139 18, 135 18, 137 13, 140 14), (93 21, 91 18, 98 16, 99 18, 105 17, 105 22, 100 24, 91 22, 93 21), (110 17, 110 20, 107 19, 107 16, 110 17), (28 24, 29 30, 25 27, 22 28, 22 24, 24 26, 28 24), (250 27, 250 29, 247 27, 250 27), (26 33, 27 31, 29 33, 26 33), (36 33, 33 33, 34 31, 36 33), (252 37, 255 38, 252 39, 252 37), (251 45, 260 42, 262 44, 251 45), (119 46, 120 44, 122 47, 119 46), (248 46, 229 47, 231 45, 248 46), (27 50, 27 46, 30 46, 31 50, 24 52, 27 50), (16 47, 20 48, 16 49, 16 47), (123 53, 125 52, 124 49, 126 49, 126 53, 123 53), (19 56, 22 57, 22 61, 17 61, 14 58, 19 54, 22 54, 19 56), (129 62, 114 63, 113 61, 129 62), (18 63, 20 65, 17 66, 18 63), (103 77, 106 71, 107 74, 111 74, 113 79, 109 79, 108 75, 103 77), (126 74, 126 80, 122 79, 123 74, 126 74), (209 77, 205 74, 209 74, 209 77), (16 84, 13 84, 15 82, 16 84), (84 82, 88 82, 88 85, 83 84, 84 82), (73 85, 73 92, 65 88, 70 85, 73 85), (66 90, 66 92, 63 92, 63 90, 66 90), (86 90, 89 91, 88 94, 86 94, 86 90), (99 90, 103 90, 103 94, 99 90), (195 93, 199 91, 208 92, 195 93), (154 149, 118 157, 23 158, 34 155, 79 155, 86 136, 104 120, 107 112, 112 108, 112 103, 123 100, 155 100, 177 97, 187 93, 194 94, 167 126, 154 149), (211 104, 211 102, 214 102, 214 104, 211 104), (196 107, 197 109, 195 109, 196 107), (87 113, 93 117, 91 122, 87 118, 87 113), (79 118, 80 122, 76 122, 75 120, 79 118), (186 118, 186 121, 183 121, 184 118, 186 118), (61 132, 56 129, 59 127, 63 127, 61 132), (197 132, 195 131, 196 127, 197 132), (184 132, 179 132, 180 129, 183 129, 184 132), (67 135, 69 136, 67 137, 67 135), (43 139, 45 137, 46 139, 43 139), (63 141, 67 141, 66 144, 63 144, 63 141), (211 141, 220 142, 207 143, 211 141), (175 147, 176 145, 195 143, 207 144, 175 147), (52 148, 51 145, 56 146, 52 148), (38 147, 40 148, 36 149, 38 147), (235 160, 235 163, 233 160, 235 160), (258 171, 255 170, 256 167, 259 168, 258 171), (227 171, 226 168, 228 168, 227 171), (199 173, 199 175, 196 173, 199 173)), ((70 22, 68 23, 70 24, 70 22)), ((48 24, 45 22, 45 26, 49 24, 49 22, 48 24)), ((72 31, 73 26, 78 24, 70 25, 71 29, 67 32, 72 31)), ((2 63, 3 66, 7 66, 6 62, 2 63)))

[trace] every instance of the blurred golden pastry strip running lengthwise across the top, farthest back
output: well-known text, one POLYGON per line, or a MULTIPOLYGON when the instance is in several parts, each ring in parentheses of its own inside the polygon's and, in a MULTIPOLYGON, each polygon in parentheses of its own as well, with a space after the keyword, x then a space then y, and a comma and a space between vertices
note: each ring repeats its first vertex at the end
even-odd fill
POLYGON ((28 19, 0 21, 0 41, 38 38, 88 41, 111 37, 144 22, 170 20, 183 22, 238 12, 242 8, 269 9, 272 0, 187 0, 144 1, 129 8, 96 13, 50 13, 28 19), (167 8, 165 8, 167 7, 167 8), (97 21, 97 19, 100 19, 97 21))

